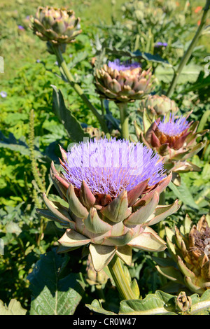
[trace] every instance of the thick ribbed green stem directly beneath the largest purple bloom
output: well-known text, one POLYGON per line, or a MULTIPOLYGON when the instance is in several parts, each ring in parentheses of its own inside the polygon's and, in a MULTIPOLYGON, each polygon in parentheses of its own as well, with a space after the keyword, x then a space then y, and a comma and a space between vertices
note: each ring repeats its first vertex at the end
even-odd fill
POLYGON ((117 255, 114 255, 111 262, 109 262, 108 267, 109 271, 111 272, 113 281, 116 283, 120 297, 123 300, 137 299, 137 297, 134 295, 134 292, 132 291, 132 288, 130 287, 130 281, 127 279, 127 276, 125 276, 121 260, 117 255))

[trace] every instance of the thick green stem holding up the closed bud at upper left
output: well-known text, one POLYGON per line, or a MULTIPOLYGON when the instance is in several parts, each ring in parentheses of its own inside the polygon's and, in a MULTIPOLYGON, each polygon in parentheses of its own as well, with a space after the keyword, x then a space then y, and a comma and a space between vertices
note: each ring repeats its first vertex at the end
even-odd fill
POLYGON ((68 66, 66 65, 66 62, 62 56, 62 52, 60 51, 59 46, 54 45, 53 49, 54 49, 55 55, 57 57, 57 62, 59 63, 59 67, 62 68, 62 73, 65 74, 66 79, 69 81, 71 87, 73 87, 73 89, 78 93, 78 95, 81 97, 81 99, 83 99, 83 102, 92 111, 94 116, 96 116, 96 118, 99 121, 99 123, 102 127, 102 130, 105 132, 105 134, 108 133, 109 130, 106 126, 106 122, 105 122, 103 116, 100 115, 100 113, 97 111, 97 109, 90 103, 89 99, 87 99, 87 97, 84 94, 80 85, 78 85, 78 83, 75 83, 73 76, 71 75, 71 73, 68 69, 68 66))

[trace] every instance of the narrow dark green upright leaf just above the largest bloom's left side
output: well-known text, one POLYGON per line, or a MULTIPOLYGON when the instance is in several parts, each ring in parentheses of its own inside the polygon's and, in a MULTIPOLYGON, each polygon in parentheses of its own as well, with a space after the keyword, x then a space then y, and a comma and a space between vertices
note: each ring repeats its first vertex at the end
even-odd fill
POLYGON ((52 85, 52 110, 55 112, 57 118, 64 125, 64 128, 68 134, 69 139, 73 142, 83 141, 84 138, 88 138, 89 135, 85 134, 78 120, 73 116, 64 103, 64 97, 60 90, 57 90, 55 85, 52 85))

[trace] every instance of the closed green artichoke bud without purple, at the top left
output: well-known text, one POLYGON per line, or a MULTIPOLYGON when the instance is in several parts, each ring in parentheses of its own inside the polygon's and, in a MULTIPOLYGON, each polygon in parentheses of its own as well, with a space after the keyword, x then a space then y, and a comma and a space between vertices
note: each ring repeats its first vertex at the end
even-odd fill
POLYGON ((31 20, 32 29, 43 41, 52 43, 71 43, 81 33, 80 18, 76 18, 73 10, 54 7, 38 7, 31 20))

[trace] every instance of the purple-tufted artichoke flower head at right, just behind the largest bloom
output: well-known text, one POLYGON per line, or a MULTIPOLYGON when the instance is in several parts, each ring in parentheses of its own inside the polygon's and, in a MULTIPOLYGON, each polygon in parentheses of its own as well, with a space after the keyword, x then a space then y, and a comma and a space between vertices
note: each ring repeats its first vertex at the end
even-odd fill
POLYGON ((208 130, 196 132, 198 121, 189 122, 190 116, 164 116, 155 120, 151 127, 141 134, 141 140, 146 146, 153 148, 160 158, 164 157, 164 167, 167 172, 200 171, 200 168, 188 162, 188 158, 204 148, 204 143, 197 143, 197 137, 206 134, 208 130))

